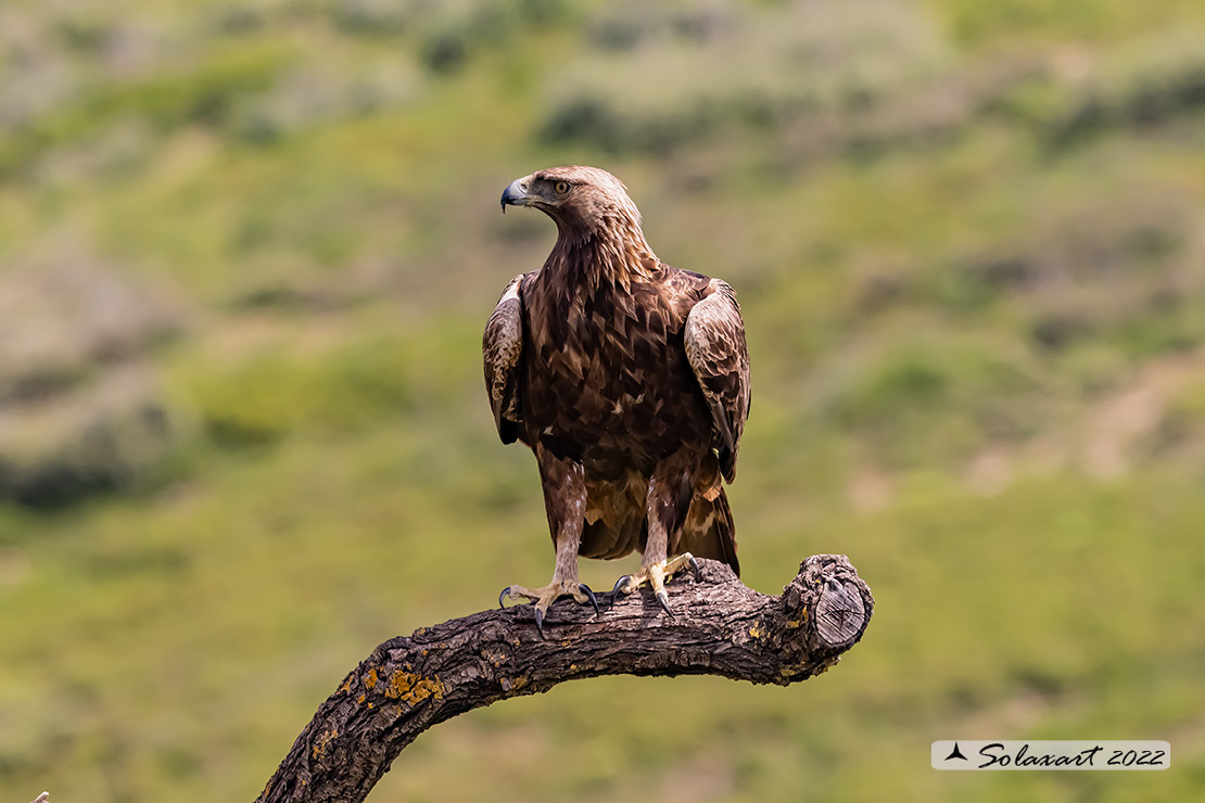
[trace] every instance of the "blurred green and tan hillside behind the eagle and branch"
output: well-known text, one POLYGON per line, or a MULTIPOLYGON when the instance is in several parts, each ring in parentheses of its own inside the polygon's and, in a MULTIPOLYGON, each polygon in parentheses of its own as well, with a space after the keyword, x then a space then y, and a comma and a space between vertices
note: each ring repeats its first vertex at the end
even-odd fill
POLYGON ((566 163, 740 294, 746 581, 845 553, 875 619, 459 718, 372 801, 1203 793, 1199 0, 4 0, 0 796, 252 799, 378 642, 546 580, 478 349, 566 163))

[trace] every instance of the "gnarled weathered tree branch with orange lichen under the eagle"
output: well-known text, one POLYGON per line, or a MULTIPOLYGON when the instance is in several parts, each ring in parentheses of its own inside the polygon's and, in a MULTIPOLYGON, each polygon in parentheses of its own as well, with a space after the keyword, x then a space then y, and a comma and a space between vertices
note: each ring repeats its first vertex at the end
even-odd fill
POLYGON ((529 609, 486 610, 377 646, 319 708, 258 801, 359 803, 419 733, 500 699, 607 674, 717 674, 787 685, 853 646, 874 598, 844 555, 815 555, 777 597, 699 561, 670 586, 674 618, 647 591, 595 615, 558 603, 536 633, 529 609))

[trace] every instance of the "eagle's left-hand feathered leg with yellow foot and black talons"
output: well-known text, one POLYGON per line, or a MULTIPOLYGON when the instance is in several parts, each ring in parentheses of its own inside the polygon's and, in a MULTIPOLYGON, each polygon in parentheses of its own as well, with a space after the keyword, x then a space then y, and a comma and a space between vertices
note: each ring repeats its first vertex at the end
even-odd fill
POLYGON ((540 444, 536 444, 535 457, 540 467, 540 483, 543 486, 548 529, 552 531, 552 543, 557 550, 552 583, 539 589, 509 585, 498 596, 498 604, 501 606, 506 598, 534 602, 535 624, 540 636, 543 636, 545 615, 552 603, 560 597, 572 597, 580 604, 589 603, 594 606, 595 613, 599 610, 599 603, 590 588, 577 580, 577 550, 582 543, 582 527, 586 524, 586 471, 580 462, 556 457, 540 444))

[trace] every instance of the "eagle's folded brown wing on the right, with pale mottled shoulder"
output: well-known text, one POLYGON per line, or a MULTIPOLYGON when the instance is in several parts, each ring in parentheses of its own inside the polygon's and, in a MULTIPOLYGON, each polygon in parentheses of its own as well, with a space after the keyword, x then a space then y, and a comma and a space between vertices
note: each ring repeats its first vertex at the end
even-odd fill
POLYGON ((750 413, 750 353, 736 293, 719 279, 712 279, 707 290, 687 315, 683 341, 719 436, 719 468, 730 483, 750 413))

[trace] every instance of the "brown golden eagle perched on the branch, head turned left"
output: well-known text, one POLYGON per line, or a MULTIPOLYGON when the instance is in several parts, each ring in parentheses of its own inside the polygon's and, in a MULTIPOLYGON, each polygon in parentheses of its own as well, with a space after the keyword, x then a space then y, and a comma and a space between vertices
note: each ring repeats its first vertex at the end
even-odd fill
MULTIPOLYGON (((596 167, 517 178, 502 211, 534 206, 557 224, 539 271, 511 279, 482 342, 486 388, 502 443, 535 453, 557 553, 552 583, 511 585, 535 603, 543 634, 562 596, 598 609, 577 557, 622 557, 669 614, 664 580, 693 555, 740 572, 733 482, 750 409, 750 359, 733 289, 670 267, 645 241, 627 188, 596 167), (675 555, 672 560, 668 560, 675 555)), ((671 614, 670 614, 671 615, 671 614)))

